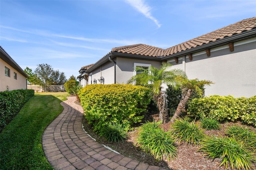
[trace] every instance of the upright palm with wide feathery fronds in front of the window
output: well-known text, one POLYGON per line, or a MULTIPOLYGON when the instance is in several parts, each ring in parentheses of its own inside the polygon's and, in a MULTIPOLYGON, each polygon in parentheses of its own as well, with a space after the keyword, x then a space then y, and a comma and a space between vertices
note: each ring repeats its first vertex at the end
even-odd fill
POLYGON ((134 68, 135 71, 140 74, 132 76, 128 83, 136 83, 136 85, 142 85, 152 88, 154 99, 157 101, 157 107, 159 109, 159 118, 163 123, 169 121, 166 93, 161 91, 162 85, 172 85, 176 87, 177 77, 186 78, 186 73, 182 69, 170 69, 171 64, 163 63, 160 68, 150 66, 149 69, 143 67, 134 68))

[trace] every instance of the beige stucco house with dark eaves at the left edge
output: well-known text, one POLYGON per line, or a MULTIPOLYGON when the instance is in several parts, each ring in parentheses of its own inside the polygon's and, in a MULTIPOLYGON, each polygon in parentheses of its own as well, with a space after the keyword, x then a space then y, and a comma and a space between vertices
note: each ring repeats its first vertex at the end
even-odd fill
POLYGON ((0 91, 27 89, 29 76, 0 46, 0 91))

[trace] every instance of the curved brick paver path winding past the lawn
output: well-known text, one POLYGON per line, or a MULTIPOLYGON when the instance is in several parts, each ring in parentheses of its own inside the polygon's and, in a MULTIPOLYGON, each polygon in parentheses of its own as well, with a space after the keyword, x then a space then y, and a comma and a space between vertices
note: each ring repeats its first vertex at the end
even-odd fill
POLYGON ((55 170, 164 170, 105 148, 82 129, 83 109, 76 97, 60 103, 64 110, 46 128, 42 146, 55 170))

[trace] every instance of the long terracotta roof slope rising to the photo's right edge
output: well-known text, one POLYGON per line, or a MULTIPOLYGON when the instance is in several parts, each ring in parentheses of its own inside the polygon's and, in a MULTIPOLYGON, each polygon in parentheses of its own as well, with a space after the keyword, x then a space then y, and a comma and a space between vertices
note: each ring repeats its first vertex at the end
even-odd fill
POLYGON ((256 29, 256 17, 248 18, 164 50, 164 56, 256 29))

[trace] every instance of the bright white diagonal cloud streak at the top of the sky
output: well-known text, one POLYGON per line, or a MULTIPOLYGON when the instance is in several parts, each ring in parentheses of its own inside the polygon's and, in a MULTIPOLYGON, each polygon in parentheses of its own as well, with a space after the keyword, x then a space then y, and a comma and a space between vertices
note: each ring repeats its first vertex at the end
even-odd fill
POLYGON ((161 27, 161 24, 159 24, 158 20, 154 18, 151 14, 151 7, 144 3, 144 0, 126 0, 128 4, 133 6, 138 12, 142 13, 146 18, 149 18, 150 20, 154 21, 154 23, 158 26, 158 28, 161 27))

